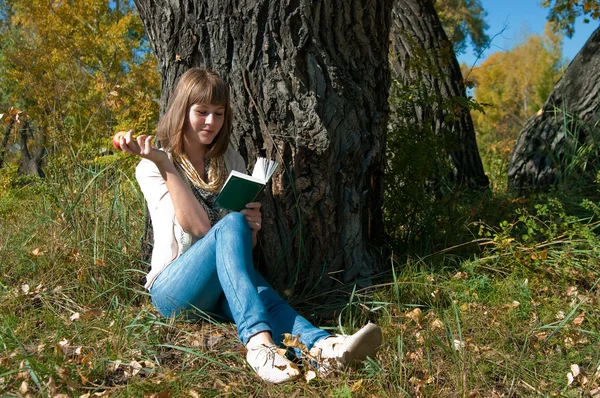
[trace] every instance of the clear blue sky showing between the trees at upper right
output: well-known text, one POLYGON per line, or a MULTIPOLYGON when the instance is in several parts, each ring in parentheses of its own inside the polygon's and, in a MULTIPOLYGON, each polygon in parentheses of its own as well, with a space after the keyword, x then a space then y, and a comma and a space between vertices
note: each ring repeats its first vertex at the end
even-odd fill
MULTIPOLYGON (((489 25, 488 36, 492 38, 499 34, 505 25, 506 29, 494 38, 491 47, 477 62, 476 55, 470 48, 466 53, 459 54, 458 61, 472 66, 474 63, 482 62, 494 52, 510 50, 528 34, 542 34, 548 9, 542 8, 539 3, 539 0, 481 0, 481 4, 488 14, 486 17, 489 25)), ((599 24, 598 21, 584 24, 581 19, 575 25, 573 37, 571 39, 565 37, 563 41, 563 56, 569 60, 575 57, 599 24)))

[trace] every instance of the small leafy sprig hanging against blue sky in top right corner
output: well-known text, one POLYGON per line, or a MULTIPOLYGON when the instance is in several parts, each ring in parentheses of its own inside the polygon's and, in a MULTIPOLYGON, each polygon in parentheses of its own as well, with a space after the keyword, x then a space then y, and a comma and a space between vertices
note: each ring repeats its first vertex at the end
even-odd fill
POLYGON ((575 32, 575 20, 583 16, 584 23, 600 19, 600 3, 597 0, 543 0, 542 7, 550 9, 548 21, 556 29, 572 37, 575 32))

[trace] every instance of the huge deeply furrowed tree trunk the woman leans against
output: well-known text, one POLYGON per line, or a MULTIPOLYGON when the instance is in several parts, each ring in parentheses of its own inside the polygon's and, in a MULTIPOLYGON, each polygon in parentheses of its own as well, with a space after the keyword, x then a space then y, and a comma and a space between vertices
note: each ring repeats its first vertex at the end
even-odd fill
POLYGON ((228 80, 233 144, 281 173, 262 197, 261 249, 278 288, 324 288, 380 267, 392 1, 135 0, 163 76, 228 80))

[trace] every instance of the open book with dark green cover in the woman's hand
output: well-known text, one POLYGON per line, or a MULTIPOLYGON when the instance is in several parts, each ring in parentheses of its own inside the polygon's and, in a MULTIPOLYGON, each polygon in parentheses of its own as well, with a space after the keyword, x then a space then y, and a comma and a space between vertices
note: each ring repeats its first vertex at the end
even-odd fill
POLYGON ((273 160, 258 158, 251 176, 233 170, 215 199, 215 205, 233 211, 245 209, 246 204, 254 202, 265 189, 277 166, 273 160))

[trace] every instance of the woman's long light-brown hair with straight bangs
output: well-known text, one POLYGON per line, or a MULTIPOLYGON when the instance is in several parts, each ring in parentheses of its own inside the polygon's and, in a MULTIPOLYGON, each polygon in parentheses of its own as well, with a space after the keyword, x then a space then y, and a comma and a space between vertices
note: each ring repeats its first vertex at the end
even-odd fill
POLYGON ((233 130, 229 87, 219 75, 206 69, 191 68, 181 75, 169 99, 167 111, 158 122, 156 138, 165 150, 183 156, 183 126, 194 104, 225 107, 223 127, 206 152, 209 158, 222 156, 233 130))

